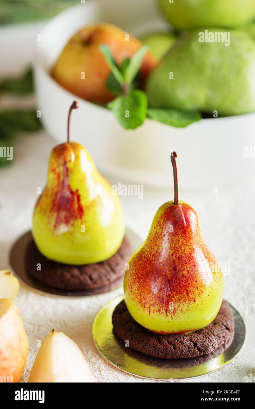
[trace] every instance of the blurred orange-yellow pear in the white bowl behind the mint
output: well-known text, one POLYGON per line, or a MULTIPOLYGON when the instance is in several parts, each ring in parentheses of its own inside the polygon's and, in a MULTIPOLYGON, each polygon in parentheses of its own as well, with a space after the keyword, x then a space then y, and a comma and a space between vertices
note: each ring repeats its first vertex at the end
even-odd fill
MULTIPOLYGON (((100 44, 106 44, 118 65, 124 58, 131 58, 142 43, 136 38, 110 24, 84 27, 78 31, 61 52, 52 70, 53 78, 70 92, 87 101, 106 103, 114 95, 106 88, 106 79, 111 73, 100 44), (84 72, 85 78, 81 78, 84 72)), ((145 81, 149 72, 157 65, 156 58, 148 52, 144 57, 140 74, 145 81)))

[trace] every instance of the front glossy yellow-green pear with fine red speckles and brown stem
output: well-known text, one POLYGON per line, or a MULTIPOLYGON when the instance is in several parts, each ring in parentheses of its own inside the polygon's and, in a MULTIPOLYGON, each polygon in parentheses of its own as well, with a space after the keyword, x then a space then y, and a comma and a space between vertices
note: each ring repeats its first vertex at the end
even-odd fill
POLYGON ((156 212, 144 243, 125 273, 124 298, 132 317, 158 334, 185 334, 210 324, 223 298, 223 274, 203 239, 196 212, 178 200, 156 212))

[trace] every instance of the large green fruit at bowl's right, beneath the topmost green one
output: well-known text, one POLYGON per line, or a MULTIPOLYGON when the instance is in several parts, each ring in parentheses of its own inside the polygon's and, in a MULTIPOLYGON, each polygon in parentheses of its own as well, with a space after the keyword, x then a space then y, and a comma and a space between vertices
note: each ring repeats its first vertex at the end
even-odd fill
POLYGON ((183 34, 149 76, 146 92, 151 108, 253 112, 255 42, 245 31, 219 28, 183 34))

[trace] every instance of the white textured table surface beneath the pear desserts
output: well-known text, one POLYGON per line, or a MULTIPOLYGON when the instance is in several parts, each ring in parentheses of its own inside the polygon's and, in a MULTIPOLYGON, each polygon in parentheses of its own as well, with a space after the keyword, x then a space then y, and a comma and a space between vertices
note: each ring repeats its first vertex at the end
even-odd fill
MULTIPOLYGON (((31 227, 37 199, 36 187, 46 180, 50 149, 55 142, 44 132, 20 137, 14 144, 15 162, 0 169, 0 268, 8 266, 11 243, 31 227)), ((252 159, 251 159, 252 160, 252 159)), ((254 160, 254 159, 253 159, 254 160)), ((215 166, 220 164, 215 163, 215 166)), ((169 172, 172 172, 169 164, 169 172)), ((118 180, 111 180, 113 184, 118 180)), ((204 191, 183 191, 179 196, 198 213, 201 228, 212 252, 220 261, 230 261, 225 277, 225 299, 239 310, 246 324, 246 341, 239 355, 220 371, 192 382, 244 382, 255 375, 255 185, 233 188, 214 187, 204 191)), ((126 225, 143 239, 158 207, 172 200, 173 192, 144 187, 144 198, 121 197, 126 225)), ((122 289, 104 295, 83 298, 47 297, 21 286, 15 299, 29 338, 29 355, 21 381, 25 382, 43 340, 55 328, 64 332, 81 348, 98 382, 154 382, 127 375, 113 368, 97 353, 91 329, 95 315, 122 289), (81 309, 81 301, 86 309, 81 309)), ((188 381, 185 381, 188 382, 188 381)))

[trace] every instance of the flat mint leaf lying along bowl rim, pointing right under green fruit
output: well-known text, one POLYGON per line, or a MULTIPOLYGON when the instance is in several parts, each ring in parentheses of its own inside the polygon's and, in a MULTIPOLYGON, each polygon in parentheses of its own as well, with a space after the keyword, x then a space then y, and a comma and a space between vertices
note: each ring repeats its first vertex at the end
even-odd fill
POLYGON ((182 111, 172 108, 149 108, 147 117, 176 128, 184 128, 192 124, 192 122, 200 121, 202 118, 201 113, 198 111, 182 111))

